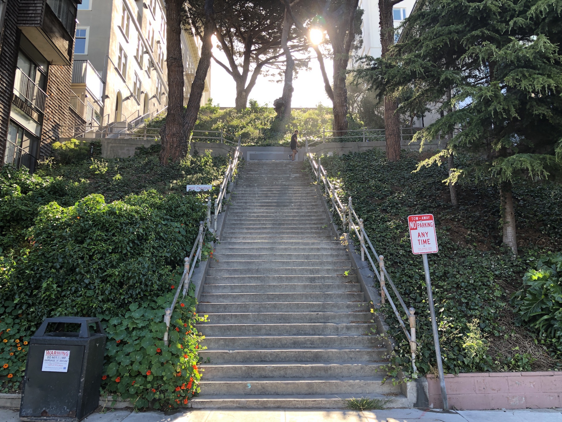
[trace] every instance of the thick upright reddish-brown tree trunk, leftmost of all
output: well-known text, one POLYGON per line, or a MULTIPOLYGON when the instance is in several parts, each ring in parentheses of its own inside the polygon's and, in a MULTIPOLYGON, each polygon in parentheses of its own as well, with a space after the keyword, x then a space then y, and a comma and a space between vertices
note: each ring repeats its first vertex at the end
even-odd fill
POLYGON ((168 109, 166 124, 160 132, 162 150, 160 163, 177 161, 186 154, 183 132, 183 57, 182 57, 183 0, 167 0, 166 61, 168 76, 168 109))

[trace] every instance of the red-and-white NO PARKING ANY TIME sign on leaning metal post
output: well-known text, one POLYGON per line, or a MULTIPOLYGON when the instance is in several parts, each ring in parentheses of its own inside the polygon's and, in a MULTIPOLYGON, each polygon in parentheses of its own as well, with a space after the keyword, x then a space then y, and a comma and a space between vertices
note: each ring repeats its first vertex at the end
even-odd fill
POLYGON ((443 410, 449 410, 447 402, 447 390, 445 388, 445 374, 443 374, 443 362, 441 360, 441 346, 439 345, 439 333, 437 332, 437 320, 435 317, 435 307, 433 304, 433 293, 431 290, 431 279, 429 277, 429 264, 427 262, 428 253, 437 253, 437 234, 433 214, 421 214, 408 217, 408 227, 410 229, 410 243, 412 253, 422 255, 423 269, 425 271, 425 286, 427 287, 429 313, 431 316, 431 327, 433 331, 433 343, 435 344, 435 354, 437 357, 437 370, 439 372, 439 384, 441 385, 441 397, 443 399, 443 410))

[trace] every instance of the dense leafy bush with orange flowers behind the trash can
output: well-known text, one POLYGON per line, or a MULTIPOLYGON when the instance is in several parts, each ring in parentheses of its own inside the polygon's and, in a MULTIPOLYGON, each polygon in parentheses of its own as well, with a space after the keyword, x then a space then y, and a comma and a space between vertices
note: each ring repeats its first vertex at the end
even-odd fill
POLYGON ((139 407, 149 401, 155 407, 183 405, 197 391, 199 379, 193 375, 201 339, 193 328, 200 319, 194 298, 186 297, 174 313, 177 330, 170 347, 157 339, 164 335, 170 285, 179 281, 176 268, 189 254, 204 214, 197 197, 156 191, 111 204, 92 194, 67 208, 56 202, 40 207, 35 226, 27 231, 29 249, 2 258, 4 390, 19 388, 25 345, 45 317, 98 315, 108 331, 106 392, 132 398, 139 407), (124 340, 123 347, 116 346, 117 340, 124 340))

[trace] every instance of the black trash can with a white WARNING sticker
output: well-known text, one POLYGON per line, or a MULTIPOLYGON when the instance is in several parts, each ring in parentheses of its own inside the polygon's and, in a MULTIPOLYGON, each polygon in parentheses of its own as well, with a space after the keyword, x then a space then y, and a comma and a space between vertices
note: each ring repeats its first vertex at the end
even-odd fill
POLYGON ((20 419, 78 421, 99 402, 106 334, 98 318, 47 318, 29 342, 20 419))

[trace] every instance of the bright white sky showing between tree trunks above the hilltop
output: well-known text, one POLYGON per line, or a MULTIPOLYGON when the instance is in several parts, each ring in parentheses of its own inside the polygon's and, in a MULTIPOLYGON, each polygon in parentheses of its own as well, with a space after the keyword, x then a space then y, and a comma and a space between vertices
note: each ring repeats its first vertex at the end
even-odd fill
MULTIPOLYGON (((215 43, 214 43, 215 44, 215 43)), ((216 45, 216 44, 215 44, 216 45)), ((325 106, 332 106, 332 101, 324 91, 324 82, 320 73, 320 66, 314 50, 311 50, 312 58, 309 62, 309 70, 304 69, 298 72, 297 78, 293 80, 293 100, 292 107, 316 107, 319 102, 325 106)), ((218 48, 213 48, 213 54, 217 59, 226 64, 224 53, 218 48)), ((332 60, 324 59, 326 72, 332 82, 332 60)), ((250 77, 248 77, 250 79, 250 77)), ((256 86, 250 92, 250 99, 257 100, 260 105, 267 103, 273 106, 275 98, 279 98, 283 91, 283 83, 269 82, 268 77, 260 75, 257 78, 256 86)), ((211 60, 211 98, 214 104, 221 107, 234 107, 236 97, 236 86, 234 79, 226 73, 220 65, 211 60)))

